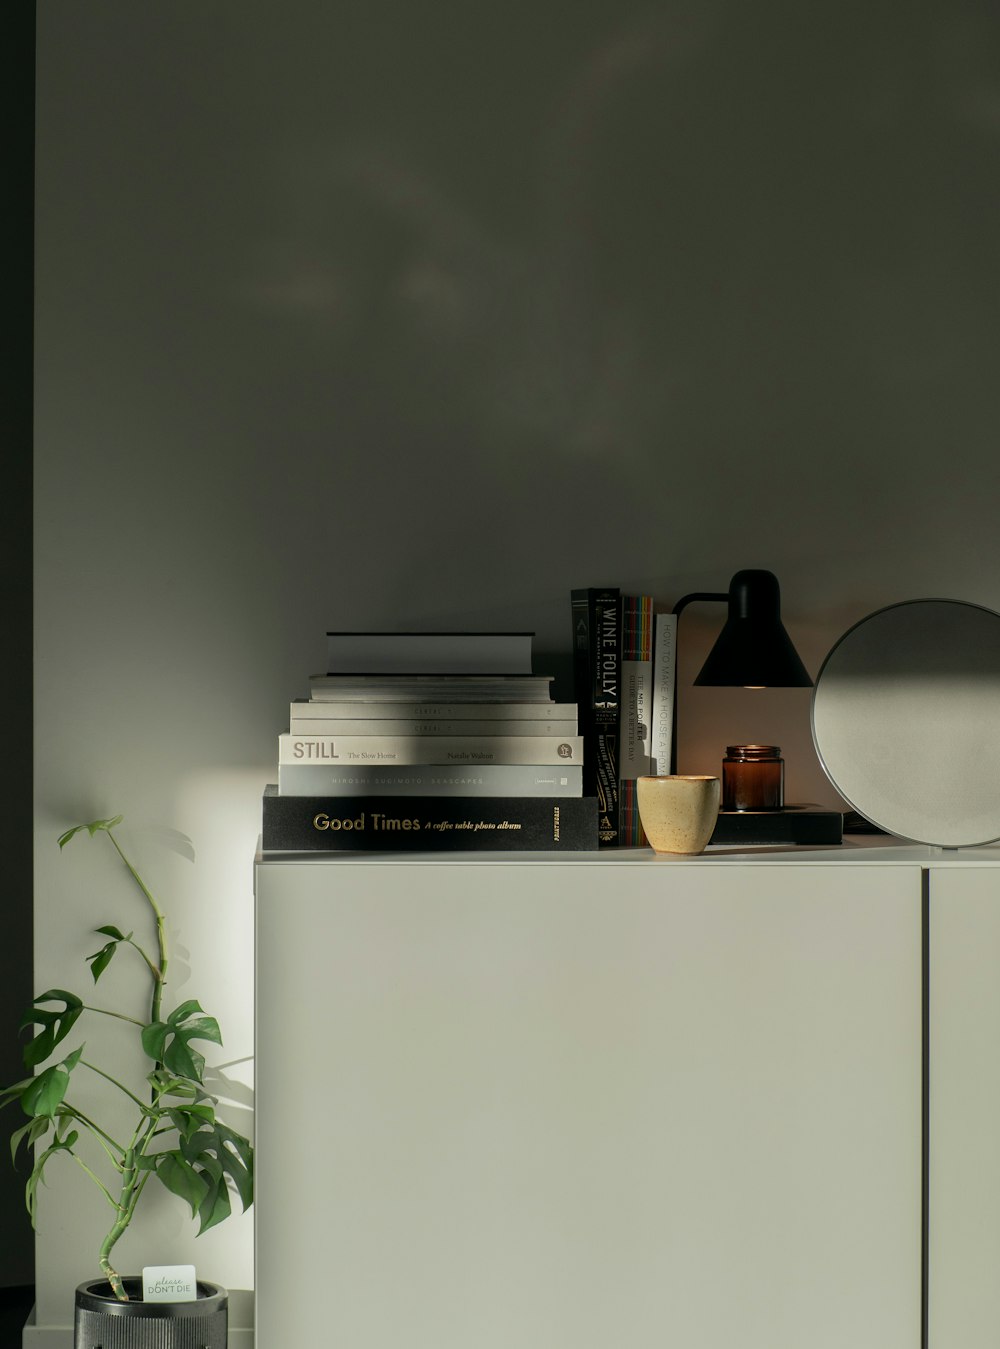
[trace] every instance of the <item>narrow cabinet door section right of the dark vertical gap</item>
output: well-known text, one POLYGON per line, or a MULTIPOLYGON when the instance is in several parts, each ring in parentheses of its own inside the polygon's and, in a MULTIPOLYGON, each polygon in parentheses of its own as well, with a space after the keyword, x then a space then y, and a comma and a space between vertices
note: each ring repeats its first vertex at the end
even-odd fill
POLYGON ((1000 1342, 1000 867, 930 882, 930 1349, 1000 1342))

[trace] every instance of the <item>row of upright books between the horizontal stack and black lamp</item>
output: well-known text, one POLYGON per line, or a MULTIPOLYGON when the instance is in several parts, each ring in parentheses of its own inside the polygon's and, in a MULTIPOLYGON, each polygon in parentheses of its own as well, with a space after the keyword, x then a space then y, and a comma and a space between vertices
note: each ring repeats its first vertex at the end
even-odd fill
POLYGON ((676 680, 675 614, 617 587, 571 595, 574 681, 584 791, 598 804, 601 847, 645 843, 636 781, 669 773, 676 680))

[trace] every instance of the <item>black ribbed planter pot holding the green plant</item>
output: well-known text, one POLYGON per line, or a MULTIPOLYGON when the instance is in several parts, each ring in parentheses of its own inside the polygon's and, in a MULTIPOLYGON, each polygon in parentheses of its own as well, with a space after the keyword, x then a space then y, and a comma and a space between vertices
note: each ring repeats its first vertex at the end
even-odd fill
POLYGON ((225 1349, 229 1295, 198 1279, 197 1302, 142 1302, 142 1279, 121 1280, 119 1302, 107 1279, 77 1288, 74 1349, 225 1349))

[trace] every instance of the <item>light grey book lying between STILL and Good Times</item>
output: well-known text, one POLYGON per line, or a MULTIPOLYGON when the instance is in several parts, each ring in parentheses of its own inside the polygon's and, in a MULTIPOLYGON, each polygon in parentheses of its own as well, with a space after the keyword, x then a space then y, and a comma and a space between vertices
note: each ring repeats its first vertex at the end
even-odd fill
POLYGON ((545 768, 533 764, 327 766, 279 764, 282 796, 583 796, 579 764, 545 768))

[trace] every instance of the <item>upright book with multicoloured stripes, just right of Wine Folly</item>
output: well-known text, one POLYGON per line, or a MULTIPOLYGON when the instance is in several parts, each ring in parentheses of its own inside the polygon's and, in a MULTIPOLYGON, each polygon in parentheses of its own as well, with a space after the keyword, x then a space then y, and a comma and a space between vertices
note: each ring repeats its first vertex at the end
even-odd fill
POLYGON ((653 596, 621 598, 618 843, 641 847, 636 778, 649 773, 653 703, 653 596))

